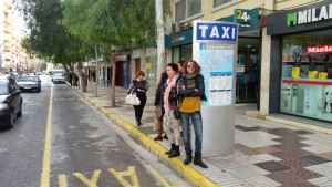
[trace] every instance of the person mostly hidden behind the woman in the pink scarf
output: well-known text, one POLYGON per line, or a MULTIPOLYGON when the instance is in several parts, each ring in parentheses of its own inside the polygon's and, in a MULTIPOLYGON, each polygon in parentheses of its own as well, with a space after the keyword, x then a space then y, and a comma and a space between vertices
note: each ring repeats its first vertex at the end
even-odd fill
MULTIPOLYGON (((160 76, 160 81, 158 83, 158 87, 156 90, 156 97, 155 97, 155 106, 159 107, 159 110, 162 110, 162 116, 157 117, 157 131, 158 131, 158 136, 155 137, 155 141, 163 141, 163 116, 165 114, 165 110, 164 110, 164 97, 163 97, 163 90, 164 90, 164 84, 166 83, 167 80, 167 73, 163 72, 162 76, 160 76)), ((165 139, 167 138, 167 135, 164 136, 165 139)))

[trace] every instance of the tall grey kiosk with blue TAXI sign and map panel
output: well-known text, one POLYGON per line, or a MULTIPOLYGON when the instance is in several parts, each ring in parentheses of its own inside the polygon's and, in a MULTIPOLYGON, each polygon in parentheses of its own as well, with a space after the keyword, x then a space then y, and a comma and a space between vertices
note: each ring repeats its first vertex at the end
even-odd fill
POLYGON ((193 56, 201 66, 207 96, 201 110, 204 156, 234 149, 237 42, 236 23, 194 21, 193 56))

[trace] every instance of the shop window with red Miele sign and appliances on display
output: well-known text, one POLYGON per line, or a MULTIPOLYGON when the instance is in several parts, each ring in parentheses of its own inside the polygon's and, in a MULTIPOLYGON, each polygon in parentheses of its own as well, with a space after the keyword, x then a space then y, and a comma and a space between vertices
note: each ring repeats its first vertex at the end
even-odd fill
POLYGON ((328 31, 282 40, 280 112, 332 122, 332 35, 328 31))

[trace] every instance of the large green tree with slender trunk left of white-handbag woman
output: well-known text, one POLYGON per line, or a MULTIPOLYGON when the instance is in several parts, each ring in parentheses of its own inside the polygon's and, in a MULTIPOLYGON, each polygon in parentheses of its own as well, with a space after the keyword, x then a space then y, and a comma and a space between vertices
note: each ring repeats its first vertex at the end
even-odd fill
POLYGON ((86 44, 103 45, 112 63, 111 105, 115 106, 116 55, 155 40, 154 0, 64 0, 64 25, 86 44))

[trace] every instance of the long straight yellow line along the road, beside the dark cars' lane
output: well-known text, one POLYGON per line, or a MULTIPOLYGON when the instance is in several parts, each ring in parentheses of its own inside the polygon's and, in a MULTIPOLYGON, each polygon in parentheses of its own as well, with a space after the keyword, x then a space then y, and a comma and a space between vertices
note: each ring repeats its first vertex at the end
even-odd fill
POLYGON ((52 105, 53 105, 53 84, 51 87, 51 97, 48 114, 48 124, 45 133, 45 144, 44 144, 44 156, 43 156, 43 167, 41 173, 40 186, 50 186, 50 170, 51 170, 51 136, 52 136, 52 105))

